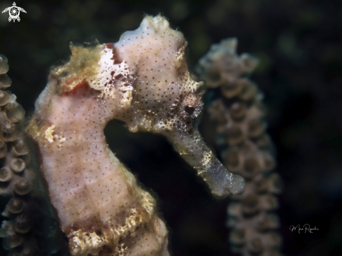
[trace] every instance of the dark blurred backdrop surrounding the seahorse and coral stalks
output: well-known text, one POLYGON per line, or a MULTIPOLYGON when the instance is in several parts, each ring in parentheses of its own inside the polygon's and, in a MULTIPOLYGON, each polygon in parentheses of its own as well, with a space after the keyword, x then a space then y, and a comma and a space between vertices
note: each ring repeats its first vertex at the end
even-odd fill
MULTIPOLYGON (((190 69, 212 43, 236 36, 238 52, 259 59, 250 77, 264 92, 269 134, 283 178, 280 233, 285 255, 342 254, 341 1, 30 1, 8 22, 0 13, 0 52, 27 116, 51 66, 69 59, 69 43, 116 42, 145 14, 166 16, 185 34, 190 69), (309 224, 311 234, 291 232, 309 224)), ((0 1, 0 10, 12 6, 0 1)), ((206 120, 206 113, 202 121, 206 120)), ((201 133, 212 148, 213 130, 201 133)), ((116 156, 157 197, 173 255, 231 255, 225 227, 229 199, 206 185, 162 137, 106 127, 116 156)), ((2 211, 2 209, 0 209, 2 211)))

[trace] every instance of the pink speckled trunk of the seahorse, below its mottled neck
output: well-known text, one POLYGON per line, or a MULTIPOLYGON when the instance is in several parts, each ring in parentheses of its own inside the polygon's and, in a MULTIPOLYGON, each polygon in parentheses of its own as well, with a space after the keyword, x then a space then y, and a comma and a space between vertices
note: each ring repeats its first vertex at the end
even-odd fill
POLYGON ((53 94, 57 87, 59 80, 52 76, 29 129, 71 254, 136 255, 139 250, 168 255, 155 200, 106 145, 108 119, 97 98, 100 92, 83 83, 53 94))

